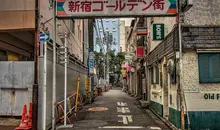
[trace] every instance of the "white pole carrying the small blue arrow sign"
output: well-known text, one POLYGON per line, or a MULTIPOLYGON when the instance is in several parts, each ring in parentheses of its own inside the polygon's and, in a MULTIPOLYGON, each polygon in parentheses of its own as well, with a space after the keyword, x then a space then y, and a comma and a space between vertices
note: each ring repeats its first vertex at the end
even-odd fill
POLYGON ((43 112, 42 126, 46 130, 46 110, 47 110, 47 42, 44 42, 44 88, 43 88, 43 112))

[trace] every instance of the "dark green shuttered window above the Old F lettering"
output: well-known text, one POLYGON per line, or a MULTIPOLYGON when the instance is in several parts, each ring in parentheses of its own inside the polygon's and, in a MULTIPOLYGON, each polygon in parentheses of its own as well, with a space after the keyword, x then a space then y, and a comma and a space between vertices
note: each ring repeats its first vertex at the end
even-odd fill
POLYGON ((220 82, 220 53, 199 53, 200 83, 220 82))

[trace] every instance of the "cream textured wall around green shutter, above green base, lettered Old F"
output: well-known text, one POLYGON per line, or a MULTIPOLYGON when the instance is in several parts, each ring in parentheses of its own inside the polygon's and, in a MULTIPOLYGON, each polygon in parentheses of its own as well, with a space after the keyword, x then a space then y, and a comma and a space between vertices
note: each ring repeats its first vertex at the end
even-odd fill
POLYGON ((183 87, 188 111, 220 111, 217 95, 220 83, 199 83, 198 54, 187 51, 183 55, 183 87), (214 100, 204 99, 204 94, 214 94, 214 100))

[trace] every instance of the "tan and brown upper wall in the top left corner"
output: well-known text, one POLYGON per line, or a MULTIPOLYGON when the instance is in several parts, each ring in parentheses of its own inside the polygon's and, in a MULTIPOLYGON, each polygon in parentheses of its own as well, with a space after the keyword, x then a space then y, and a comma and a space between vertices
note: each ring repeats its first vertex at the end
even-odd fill
POLYGON ((34 0, 1 0, 0 30, 34 30, 34 0))

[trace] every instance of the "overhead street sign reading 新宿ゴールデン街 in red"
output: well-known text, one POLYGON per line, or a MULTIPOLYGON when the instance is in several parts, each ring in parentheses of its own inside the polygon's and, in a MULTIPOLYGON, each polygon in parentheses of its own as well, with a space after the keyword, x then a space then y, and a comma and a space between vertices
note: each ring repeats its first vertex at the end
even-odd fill
POLYGON ((176 0, 57 0, 58 17, 175 16, 176 0))

